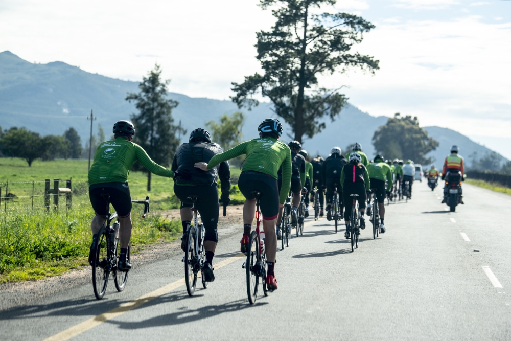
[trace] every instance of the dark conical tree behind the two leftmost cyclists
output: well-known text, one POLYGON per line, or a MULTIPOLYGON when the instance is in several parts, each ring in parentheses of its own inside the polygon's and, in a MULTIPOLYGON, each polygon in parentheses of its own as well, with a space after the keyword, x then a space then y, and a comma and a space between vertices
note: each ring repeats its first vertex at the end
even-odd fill
MULTIPOLYGON (((160 66, 155 64, 154 70, 138 84, 140 93, 128 93, 126 100, 134 101, 139 112, 131 116, 136 130, 134 142, 144 148, 154 162, 167 167, 180 143, 176 132, 185 131, 173 124, 172 109, 179 103, 166 99, 170 80, 161 81, 160 76, 160 66)), ((151 190, 151 172, 147 173, 147 190, 151 190)))

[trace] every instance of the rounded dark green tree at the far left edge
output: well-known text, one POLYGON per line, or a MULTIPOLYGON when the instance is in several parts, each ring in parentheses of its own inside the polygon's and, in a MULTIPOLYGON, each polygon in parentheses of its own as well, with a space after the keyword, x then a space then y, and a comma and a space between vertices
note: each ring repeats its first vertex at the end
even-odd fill
POLYGON ((2 137, 2 152, 7 156, 23 158, 31 167, 44 149, 38 133, 12 127, 2 137))

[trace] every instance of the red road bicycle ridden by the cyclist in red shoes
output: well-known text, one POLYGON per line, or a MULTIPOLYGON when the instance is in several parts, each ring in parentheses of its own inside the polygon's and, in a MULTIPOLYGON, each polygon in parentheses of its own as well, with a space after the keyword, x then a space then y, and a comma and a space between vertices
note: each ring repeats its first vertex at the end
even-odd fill
MULTIPOLYGON (((255 299, 257 299, 258 289, 259 289, 259 279, 262 280, 263 284, 263 293, 265 296, 268 295, 268 288, 266 286, 266 272, 268 269, 268 265, 266 263, 266 250, 265 250, 265 238, 264 231, 261 231, 261 221, 263 220, 263 216, 259 209, 259 192, 252 192, 252 195, 255 196, 256 204, 255 204, 255 231, 252 231, 250 234, 250 240, 248 242, 248 252, 247 252, 247 260, 243 263, 242 268, 247 271, 247 294, 248 294, 248 302, 250 304, 255 303, 255 299)), ((284 220, 284 219, 283 219, 284 220)))

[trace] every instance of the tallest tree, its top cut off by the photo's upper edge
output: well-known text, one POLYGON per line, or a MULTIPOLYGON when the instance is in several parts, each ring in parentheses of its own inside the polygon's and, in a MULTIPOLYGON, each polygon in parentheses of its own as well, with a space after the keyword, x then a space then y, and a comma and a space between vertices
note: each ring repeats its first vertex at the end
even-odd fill
POLYGON ((374 73, 379 69, 373 57, 351 53, 360 43, 363 33, 375 26, 363 18, 347 13, 315 14, 323 5, 335 5, 336 0, 260 0, 259 6, 272 10, 276 18, 271 31, 257 33, 257 59, 264 71, 245 77, 241 84, 233 82, 236 96, 231 99, 238 107, 250 110, 257 106, 257 97, 268 97, 275 113, 289 123, 294 139, 302 142, 303 135, 312 138, 332 121, 345 106, 347 97, 338 89, 319 86, 318 76, 344 73, 350 67, 374 73))

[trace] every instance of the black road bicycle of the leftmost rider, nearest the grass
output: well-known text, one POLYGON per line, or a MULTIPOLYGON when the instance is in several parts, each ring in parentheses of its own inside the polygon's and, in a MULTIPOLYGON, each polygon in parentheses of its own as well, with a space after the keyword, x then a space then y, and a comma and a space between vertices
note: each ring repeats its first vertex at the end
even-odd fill
MULTIPOLYGON (((106 220, 98 232, 98 239, 95 248, 95 261, 92 266, 92 287, 96 299, 101 300, 106 292, 108 286, 108 278, 110 272, 115 278, 115 288, 117 291, 123 291, 126 282, 128 281, 129 271, 119 271, 117 269, 117 261, 121 248, 119 246, 119 217, 117 212, 110 214, 110 194, 101 193, 101 196, 107 203, 106 220), (111 222, 117 219, 112 225, 111 222)), ((133 203, 140 203, 144 205, 144 213, 142 218, 145 218, 149 212, 149 197, 146 200, 131 200, 133 203)), ((126 253, 126 260, 130 261, 131 256, 131 243, 128 245, 128 252, 126 253)))

